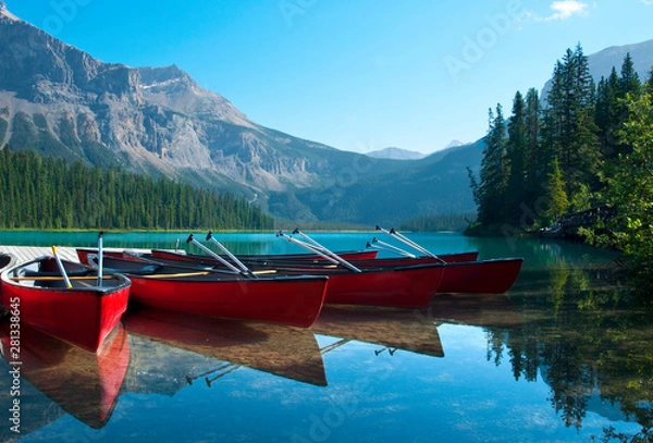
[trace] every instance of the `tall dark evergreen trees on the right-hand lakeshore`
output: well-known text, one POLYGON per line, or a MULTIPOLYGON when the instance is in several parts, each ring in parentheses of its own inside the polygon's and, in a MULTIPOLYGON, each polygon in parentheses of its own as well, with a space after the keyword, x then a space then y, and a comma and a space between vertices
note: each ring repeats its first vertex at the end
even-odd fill
POLYGON ((537 232, 606 207, 615 216, 579 234, 653 274, 653 73, 640 79, 630 54, 596 84, 581 46, 568 49, 543 100, 531 88, 515 95, 509 118, 490 109, 485 141, 479 176, 469 171, 470 234, 537 232))

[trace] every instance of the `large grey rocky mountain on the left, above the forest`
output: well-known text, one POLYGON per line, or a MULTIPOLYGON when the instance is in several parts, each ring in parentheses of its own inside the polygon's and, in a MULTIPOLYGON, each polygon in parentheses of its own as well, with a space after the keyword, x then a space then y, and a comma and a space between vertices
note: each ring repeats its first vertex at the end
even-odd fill
POLYGON ((263 196, 356 153, 262 127, 177 66, 103 63, 0 12, 0 146, 263 196))

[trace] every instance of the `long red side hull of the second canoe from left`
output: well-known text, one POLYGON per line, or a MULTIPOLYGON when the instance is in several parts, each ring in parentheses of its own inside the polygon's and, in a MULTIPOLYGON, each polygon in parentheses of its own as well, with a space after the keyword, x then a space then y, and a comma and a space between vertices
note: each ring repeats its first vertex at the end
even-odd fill
POLYGON ((144 306, 299 328, 308 328, 316 321, 328 287, 326 278, 308 276, 260 280, 218 280, 213 274, 128 276, 132 300, 144 306))

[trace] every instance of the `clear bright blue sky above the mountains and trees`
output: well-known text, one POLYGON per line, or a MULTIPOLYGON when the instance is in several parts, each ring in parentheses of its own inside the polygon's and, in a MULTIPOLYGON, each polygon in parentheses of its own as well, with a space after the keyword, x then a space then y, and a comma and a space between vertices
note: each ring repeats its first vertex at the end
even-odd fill
POLYGON ((653 0, 5 3, 100 60, 174 63, 257 123, 360 152, 473 141, 567 48, 653 38, 653 0))

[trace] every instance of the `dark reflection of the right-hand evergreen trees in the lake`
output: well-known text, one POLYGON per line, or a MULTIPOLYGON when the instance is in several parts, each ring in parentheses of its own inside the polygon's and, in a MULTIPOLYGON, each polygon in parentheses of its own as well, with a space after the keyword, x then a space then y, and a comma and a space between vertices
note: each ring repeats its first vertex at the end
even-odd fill
POLYGON ((591 260, 522 270, 507 295, 522 325, 484 325, 488 361, 508 357, 516 381, 540 374, 567 427, 580 429, 596 404, 641 426, 634 435, 606 428, 595 441, 653 442, 653 315, 614 271, 591 260))

